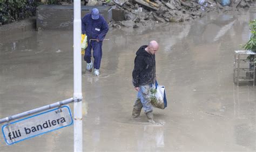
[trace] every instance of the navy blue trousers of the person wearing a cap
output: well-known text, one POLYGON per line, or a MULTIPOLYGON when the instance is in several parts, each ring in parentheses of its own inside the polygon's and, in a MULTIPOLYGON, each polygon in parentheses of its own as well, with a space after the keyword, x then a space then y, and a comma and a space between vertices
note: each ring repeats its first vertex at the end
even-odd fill
POLYGON ((100 62, 102 61, 102 41, 95 41, 92 40, 90 42, 90 39, 87 40, 88 42, 88 46, 85 49, 85 55, 84 55, 84 61, 86 61, 87 63, 91 62, 91 56, 93 55, 94 58, 94 68, 95 69, 99 69, 100 67, 100 62), (91 50, 93 49, 93 54, 91 55, 91 50))

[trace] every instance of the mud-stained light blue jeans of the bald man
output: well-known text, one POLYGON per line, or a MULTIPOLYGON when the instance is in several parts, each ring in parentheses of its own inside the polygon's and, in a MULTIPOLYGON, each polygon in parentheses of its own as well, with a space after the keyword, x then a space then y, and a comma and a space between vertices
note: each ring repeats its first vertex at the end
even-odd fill
POLYGON ((145 113, 153 111, 153 106, 150 102, 151 88, 155 88, 153 85, 140 85, 137 100, 134 103, 134 108, 137 110, 144 109, 145 113))

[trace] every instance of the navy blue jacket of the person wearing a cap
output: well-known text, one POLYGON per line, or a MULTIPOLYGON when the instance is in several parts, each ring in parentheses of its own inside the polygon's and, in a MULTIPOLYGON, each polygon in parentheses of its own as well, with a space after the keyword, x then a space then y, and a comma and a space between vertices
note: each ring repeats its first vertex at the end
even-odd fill
POLYGON ((92 19, 91 13, 83 17, 82 33, 87 35, 88 40, 98 39, 103 41, 107 31, 109 31, 109 25, 101 15, 99 15, 98 19, 92 19))

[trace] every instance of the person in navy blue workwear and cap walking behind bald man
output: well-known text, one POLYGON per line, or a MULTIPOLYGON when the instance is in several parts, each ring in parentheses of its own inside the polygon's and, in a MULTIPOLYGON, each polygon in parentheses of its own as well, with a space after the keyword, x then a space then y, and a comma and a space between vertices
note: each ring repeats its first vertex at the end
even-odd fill
POLYGON ((109 31, 109 25, 103 16, 99 15, 99 10, 94 8, 91 13, 82 18, 82 33, 87 35, 88 46, 85 49, 84 61, 87 62, 86 70, 92 71, 99 76, 100 62, 102 60, 102 42, 109 31), (91 60, 91 49, 93 49, 93 59, 91 60))

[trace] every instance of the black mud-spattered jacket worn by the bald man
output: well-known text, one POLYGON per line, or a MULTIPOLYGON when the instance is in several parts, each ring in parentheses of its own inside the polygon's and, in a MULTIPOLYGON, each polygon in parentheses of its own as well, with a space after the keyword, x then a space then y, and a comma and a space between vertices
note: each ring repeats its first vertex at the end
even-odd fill
POLYGON ((142 46, 136 52, 134 69, 132 71, 132 83, 134 87, 149 85, 156 81, 156 60, 155 56, 147 53, 142 46))

